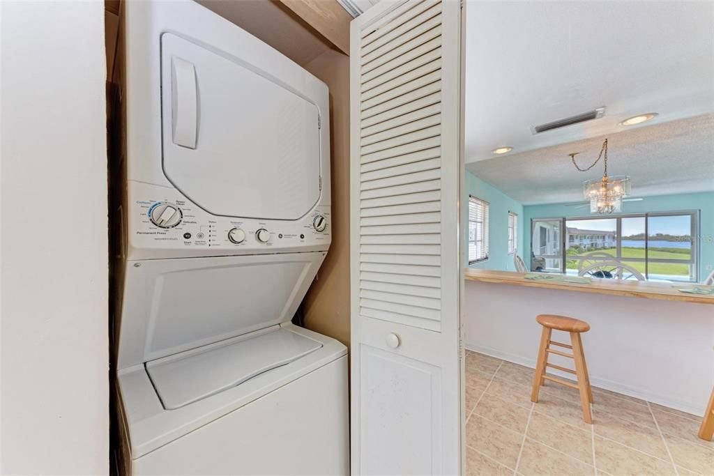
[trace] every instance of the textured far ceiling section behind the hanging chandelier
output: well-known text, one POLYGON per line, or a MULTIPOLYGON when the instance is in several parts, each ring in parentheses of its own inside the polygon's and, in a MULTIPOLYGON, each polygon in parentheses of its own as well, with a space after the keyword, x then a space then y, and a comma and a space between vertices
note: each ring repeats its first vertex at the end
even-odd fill
POLYGON ((568 153, 580 152, 578 165, 589 166, 605 137, 608 173, 629 175, 633 197, 714 191, 714 114, 468 163, 466 168, 526 205, 582 201, 581 183, 602 176, 603 163, 579 172, 568 153))

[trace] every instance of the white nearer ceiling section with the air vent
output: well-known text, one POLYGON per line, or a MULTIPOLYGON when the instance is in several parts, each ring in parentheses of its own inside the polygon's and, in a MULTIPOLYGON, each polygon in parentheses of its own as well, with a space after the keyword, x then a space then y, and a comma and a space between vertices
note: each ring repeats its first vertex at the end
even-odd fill
POLYGON ((714 2, 468 2, 467 162, 612 134, 648 112, 659 116, 634 127, 714 112, 714 2), (531 133, 600 106, 603 118, 531 133))

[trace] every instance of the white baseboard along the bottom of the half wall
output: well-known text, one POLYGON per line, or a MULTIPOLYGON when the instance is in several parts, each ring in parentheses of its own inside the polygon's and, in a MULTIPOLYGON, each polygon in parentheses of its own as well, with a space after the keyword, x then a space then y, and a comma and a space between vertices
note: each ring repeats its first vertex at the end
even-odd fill
MULTIPOLYGON (((508 362, 523 365, 524 367, 535 369, 535 359, 523 358, 520 355, 513 355, 510 353, 501 352, 501 350, 486 347, 484 345, 476 345, 466 343, 464 347, 472 352, 478 352, 480 354, 491 355, 501 360, 506 360, 508 362)), ((549 370, 550 372, 550 370, 549 370)), ((558 370, 552 370, 554 375, 560 375, 564 378, 572 379, 573 375, 560 372, 558 370)), ((692 415, 697 415, 698 417, 703 416, 701 408, 695 408, 687 402, 681 402, 680 400, 674 400, 668 395, 658 395, 640 388, 633 388, 629 385, 625 385, 620 382, 614 382, 613 380, 606 380, 603 378, 597 378, 590 375, 590 383, 593 387, 604 388, 605 390, 610 390, 612 392, 621 393, 623 395, 628 395, 629 397, 640 398, 640 400, 647 400, 648 402, 653 402, 658 405, 663 405, 665 407, 674 408, 675 410, 680 410, 683 412, 690 413, 692 415)))

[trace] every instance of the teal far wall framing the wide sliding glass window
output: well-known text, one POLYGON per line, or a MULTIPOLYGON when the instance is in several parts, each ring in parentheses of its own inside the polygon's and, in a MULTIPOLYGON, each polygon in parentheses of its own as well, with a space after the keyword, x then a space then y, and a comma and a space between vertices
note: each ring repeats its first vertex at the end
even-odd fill
MULTIPOLYGON (((467 176, 468 178, 468 176, 467 176)), ((714 268, 714 192, 681 193, 645 197, 640 202, 623 203, 623 214, 658 211, 700 210, 699 220, 699 280, 704 280, 714 268)), ((523 243, 526 256, 531 255, 531 219, 587 216, 588 209, 573 212, 573 207, 562 203, 552 205, 528 205, 523 207, 523 243)), ((617 216, 617 213, 613 213, 617 216)), ((526 260, 528 264, 528 260, 526 260)))

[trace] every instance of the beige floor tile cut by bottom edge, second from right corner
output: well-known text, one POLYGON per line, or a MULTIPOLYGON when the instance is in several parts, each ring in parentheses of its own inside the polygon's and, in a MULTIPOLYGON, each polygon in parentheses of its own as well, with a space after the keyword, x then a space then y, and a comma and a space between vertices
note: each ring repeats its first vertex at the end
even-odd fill
POLYGON ((610 475, 674 475, 671 461, 660 460, 603 437, 595 437, 595 466, 610 475))

